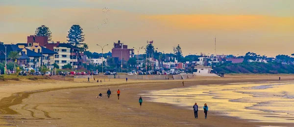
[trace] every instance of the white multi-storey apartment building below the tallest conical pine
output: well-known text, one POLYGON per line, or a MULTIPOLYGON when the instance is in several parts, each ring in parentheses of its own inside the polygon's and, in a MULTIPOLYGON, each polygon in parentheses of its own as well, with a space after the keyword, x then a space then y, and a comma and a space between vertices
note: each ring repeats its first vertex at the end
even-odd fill
POLYGON ((53 47, 53 49, 58 53, 54 55, 54 63, 58 64, 59 68, 71 62, 71 48, 53 47))

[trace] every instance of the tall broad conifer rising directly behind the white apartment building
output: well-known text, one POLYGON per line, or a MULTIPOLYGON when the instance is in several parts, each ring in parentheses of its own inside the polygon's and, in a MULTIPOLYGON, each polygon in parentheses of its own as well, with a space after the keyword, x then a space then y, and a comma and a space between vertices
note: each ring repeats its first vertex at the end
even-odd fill
POLYGON ((85 35, 83 35, 83 28, 80 25, 72 25, 70 31, 68 31, 68 42, 74 46, 81 45, 81 42, 85 41, 85 35))

